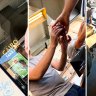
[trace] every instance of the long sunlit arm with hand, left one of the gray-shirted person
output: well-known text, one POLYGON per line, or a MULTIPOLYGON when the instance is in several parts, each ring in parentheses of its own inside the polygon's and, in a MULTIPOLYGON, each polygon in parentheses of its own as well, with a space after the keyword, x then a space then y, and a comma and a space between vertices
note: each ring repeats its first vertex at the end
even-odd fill
POLYGON ((41 61, 34 67, 29 69, 30 80, 40 80, 47 71, 53 58, 55 48, 58 44, 58 37, 62 28, 55 27, 51 32, 51 43, 41 61))

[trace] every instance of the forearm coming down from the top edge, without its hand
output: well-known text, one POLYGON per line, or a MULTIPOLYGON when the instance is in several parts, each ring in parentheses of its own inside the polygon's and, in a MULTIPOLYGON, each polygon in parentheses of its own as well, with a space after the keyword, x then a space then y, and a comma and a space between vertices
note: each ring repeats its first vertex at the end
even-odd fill
POLYGON ((65 0, 64 1, 64 8, 63 8, 63 11, 62 11, 62 15, 63 16, 70 16, 72 10, 74 9, 74 7, 76 6, 77 2, 79 0, 65 0))

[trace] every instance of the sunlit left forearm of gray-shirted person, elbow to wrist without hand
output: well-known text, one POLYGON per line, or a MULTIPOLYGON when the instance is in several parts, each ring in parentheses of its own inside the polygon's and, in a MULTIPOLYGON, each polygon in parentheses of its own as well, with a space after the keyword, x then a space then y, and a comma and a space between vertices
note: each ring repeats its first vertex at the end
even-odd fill
POLYGON ((41 61, 36 65, 35 68, 32 69, 32 71, 29 70, 29 79, 30 80, 39 80, 43 77, 45 72, 47 71, 51 60, 53 58, 55 52, 55 47, 50 45, 46 53, 44 54, 41 61))

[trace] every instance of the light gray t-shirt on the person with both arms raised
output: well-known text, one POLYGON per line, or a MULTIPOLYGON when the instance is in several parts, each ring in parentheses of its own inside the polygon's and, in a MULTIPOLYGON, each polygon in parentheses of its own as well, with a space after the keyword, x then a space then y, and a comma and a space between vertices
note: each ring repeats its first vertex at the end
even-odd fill
MULTIPOLYGON (((35 67, 42 58, 42 54, 30 59, 30 67, 35 67)), ((33 96, 64 96, 72 84, 64 81, 57 71, 50 65, 43 78, 39 81, 30 81, 29 90, 33 96)))

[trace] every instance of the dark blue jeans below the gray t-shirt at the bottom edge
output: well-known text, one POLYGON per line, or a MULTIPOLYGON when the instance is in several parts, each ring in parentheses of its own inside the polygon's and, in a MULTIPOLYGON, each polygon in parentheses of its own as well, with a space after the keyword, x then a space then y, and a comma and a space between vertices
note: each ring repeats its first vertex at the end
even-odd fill
POLYGON ((77 85, 73 85, 65 96, 85 96, 85 89, 77 85))

